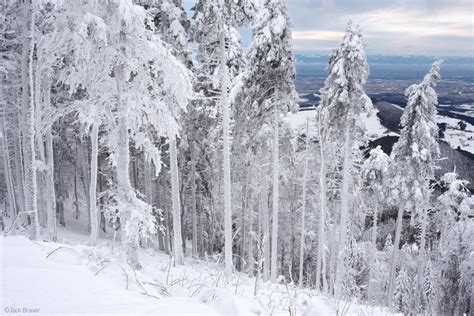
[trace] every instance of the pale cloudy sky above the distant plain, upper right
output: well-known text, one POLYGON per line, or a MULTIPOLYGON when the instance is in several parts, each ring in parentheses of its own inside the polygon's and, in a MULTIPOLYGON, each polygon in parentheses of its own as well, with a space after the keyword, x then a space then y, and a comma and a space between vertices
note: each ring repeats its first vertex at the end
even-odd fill
MULTIPOLYGON (((184 0, 188 8, 193 2, 184 0)), ((473 0, 286 0, 286 3, 297 52, 330 51, 342 38, 347 21, 352 19, 362 29, 369 54, 474 56, 473 0)))

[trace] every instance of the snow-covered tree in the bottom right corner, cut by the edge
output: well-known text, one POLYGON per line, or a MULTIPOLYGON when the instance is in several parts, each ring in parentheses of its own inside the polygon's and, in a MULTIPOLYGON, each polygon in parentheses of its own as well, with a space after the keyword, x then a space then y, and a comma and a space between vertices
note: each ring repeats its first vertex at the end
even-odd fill
POLYGON ((432 267, 437 271, 432 312, 462 314, 472 308, 474 199, 455 172, 443 175, 441 183, 447 190, 437 199, 440 238, 432 267))

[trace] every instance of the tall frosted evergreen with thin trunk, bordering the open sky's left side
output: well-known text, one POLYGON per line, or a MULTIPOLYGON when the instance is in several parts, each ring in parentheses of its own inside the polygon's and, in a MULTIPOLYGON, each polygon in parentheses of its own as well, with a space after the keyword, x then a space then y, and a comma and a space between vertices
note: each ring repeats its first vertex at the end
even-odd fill
MULTIPOLYGON (((290 18, 283 1, 267 0, 257 10, 243 79, 242 108, 238 111, 241 146, 264 123, 273 120, 273 217, 271 279, 277 278, 279 213, 279 124, 280 113, 296 106, 295 59, 291 46, 290 18), (273 119, 271 119, 273 117, 273 119), (252 129, 253 131, 250 131, 252 129)), ((271 122, 271 121, 270 121, 271 122)))

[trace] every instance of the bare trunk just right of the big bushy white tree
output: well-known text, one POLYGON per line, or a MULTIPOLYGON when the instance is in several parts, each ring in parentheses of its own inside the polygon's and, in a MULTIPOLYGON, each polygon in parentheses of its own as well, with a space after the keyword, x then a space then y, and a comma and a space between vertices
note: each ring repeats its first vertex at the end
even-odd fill
POLYGON ((181 236, 181 210, 179 196, 178 153, 176 135, 170 136, 171 198, 173 205, 173 252, 174 263, 184 264, 183 241, 181 236))

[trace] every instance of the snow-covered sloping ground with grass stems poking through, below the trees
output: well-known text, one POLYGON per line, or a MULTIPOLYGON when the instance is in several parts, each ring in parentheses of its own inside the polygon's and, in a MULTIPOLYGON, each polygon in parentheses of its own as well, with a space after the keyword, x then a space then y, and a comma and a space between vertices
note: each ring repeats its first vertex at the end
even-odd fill
POLYGON ((187 259, 173 267, 167 255, 142 249, 143 270, 120 259, 119 244, 98 247, 34 242, 9 236, 0 240, 2 315, 390 315, 378 307, 336 302, 291 284, 261 283, 236 274, 226 280, 219 258, 187 259))

